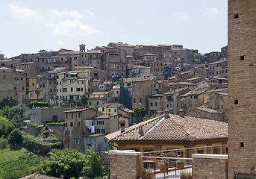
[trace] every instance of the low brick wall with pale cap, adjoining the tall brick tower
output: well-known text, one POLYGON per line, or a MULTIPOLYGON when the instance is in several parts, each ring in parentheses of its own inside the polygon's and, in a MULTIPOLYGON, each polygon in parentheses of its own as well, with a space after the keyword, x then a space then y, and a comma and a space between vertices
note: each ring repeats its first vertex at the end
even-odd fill
POLYGON ((228 178, 228 155, 193 154, 193 178, 228 178))

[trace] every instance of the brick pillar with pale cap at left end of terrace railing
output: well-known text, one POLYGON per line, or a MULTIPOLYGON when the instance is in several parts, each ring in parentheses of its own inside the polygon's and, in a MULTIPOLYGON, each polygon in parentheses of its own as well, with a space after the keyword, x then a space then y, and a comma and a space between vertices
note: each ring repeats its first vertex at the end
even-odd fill
POLYGON ((140 176, 140 152, 133 150, 109 151, 110 178, 137 179, 140 176))

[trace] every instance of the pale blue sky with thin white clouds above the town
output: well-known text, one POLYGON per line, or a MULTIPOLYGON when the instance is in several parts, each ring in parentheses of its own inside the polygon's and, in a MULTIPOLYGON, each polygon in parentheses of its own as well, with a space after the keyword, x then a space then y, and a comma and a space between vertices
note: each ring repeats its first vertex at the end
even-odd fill
POLYGON ((117 42, 205 54, 228 44, 227 0, 1 0, 0 7, 4 57, 117 42))

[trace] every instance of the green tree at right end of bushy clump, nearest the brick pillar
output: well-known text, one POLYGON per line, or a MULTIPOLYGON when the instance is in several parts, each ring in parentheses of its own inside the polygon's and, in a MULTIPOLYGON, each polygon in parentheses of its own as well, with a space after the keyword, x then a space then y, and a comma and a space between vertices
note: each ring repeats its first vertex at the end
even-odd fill
POLYGON ((104 171, 102 158, 93 149, 89 149, 87 154, 87 166, 84 167, 84 174, 89 178, 101 177, 104 171))

